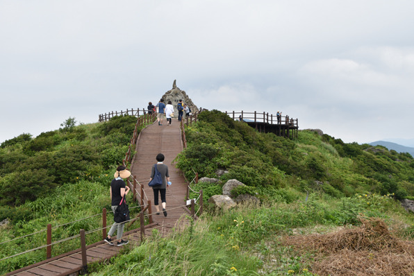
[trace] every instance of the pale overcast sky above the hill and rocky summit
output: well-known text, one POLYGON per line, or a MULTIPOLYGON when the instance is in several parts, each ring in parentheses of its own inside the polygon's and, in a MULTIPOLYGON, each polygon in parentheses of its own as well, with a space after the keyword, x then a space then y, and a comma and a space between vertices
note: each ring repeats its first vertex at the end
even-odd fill
POLYGON ((146 107, 175 79, 198 107, 280 110, 345 142, 414 139, 413 10, 411 0, 0 0, 0 142, 146 107))

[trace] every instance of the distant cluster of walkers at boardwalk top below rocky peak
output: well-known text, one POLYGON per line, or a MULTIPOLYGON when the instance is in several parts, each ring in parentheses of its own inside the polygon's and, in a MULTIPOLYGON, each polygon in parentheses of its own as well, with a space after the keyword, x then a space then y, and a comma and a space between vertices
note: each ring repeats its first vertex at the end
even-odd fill
MULTIPOLYGON (((183 100, 179 100, 179 103, 176 105, 177 110, 179 111, 179 121, 183 119, 183 114, 185 116, 190 116, 190 107, 183 103, 183 100)), ((161 98, 160 101, 153 105, 151 102, 148 103, 148 114, 157 114, 157 121, 158 126, 163 126, 164 116, 167 119, 167 126, 171 126, 172 117, 174 117, 174 106, 172 105, 172 101, 168 101, 167 105, 164 103, 164 99, 161 98)))

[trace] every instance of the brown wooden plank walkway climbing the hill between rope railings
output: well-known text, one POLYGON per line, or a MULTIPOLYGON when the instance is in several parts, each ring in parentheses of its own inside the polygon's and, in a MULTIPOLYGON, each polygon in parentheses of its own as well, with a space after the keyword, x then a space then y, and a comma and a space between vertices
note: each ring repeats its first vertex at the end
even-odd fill
MULTIPOLYGON (((163 236, 168 234, 169 230, 173 227, 181 227, 187 224, 187 219, 183 218, 187 213, 183 209, 185 203, 185 193, 187 191, 187 182, 183 177, 183 174, 179 169, 176 169, 173 160, 183 149, 183 143, 181 140, 181 131, 179 128, 179 122, 173 119, 172 126, 167 126, 164 121, 163 126, 158 126, 158 123, 154 123, 147 128, 144 128, 138 137, 137 154, 133 159, 133 169, 131 173, 135 175, 138 182, 144 185, 144 193, 147 198, 151 200, 152 210, 156 212, 154 206, 154 193, 147 183, 151 175, 151 167, 156 163, 156 155, 163 153, 165 155, 164 164, 169 167, 169 177, 172 182, 172 186, 167 189, 167 216, 154 215, 151 225, 146 225, 145 234, 151 235, 153 229, 158 229, 163 236), (176 225, 177 222, 180 225, 176 225)), ((161 207, 161 206, 160 206, 161 207)), ((160 208, 161 210, 162 208, 160 208)), ((128 225, 128 223, 127 223, 128 225)), ((138 226, 138 223, 133 224, 138 226)), ((130 241, 129 245, 124 246, 136 246, 140 244, 141 236, 140 229, 131 230, 124 233, 124 239, 130 241)), ((118 254, 122 246, 108 245, 104 241, 88 245, 86 247, 86 255, 88 264, 92 262, 102 262, 106 259, 118 254)), ((67 252, 63 255, 52 257, 26 266, 19 270, 15 270, 7 275, 20 275, 20 276, 49 276, 49 275, 74 275, 78 274, 82 267, 82 255, 81 249, 67 252)))

